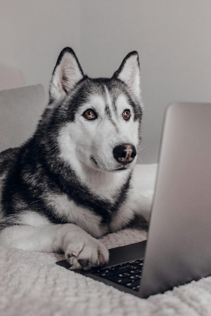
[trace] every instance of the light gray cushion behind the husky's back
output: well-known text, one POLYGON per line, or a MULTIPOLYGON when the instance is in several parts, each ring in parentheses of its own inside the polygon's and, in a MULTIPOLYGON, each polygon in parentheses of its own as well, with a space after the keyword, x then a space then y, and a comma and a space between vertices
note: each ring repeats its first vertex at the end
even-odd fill
POLYGON ((0 152, 33 134, 46 103, 41 84, 0 91, 0 152))

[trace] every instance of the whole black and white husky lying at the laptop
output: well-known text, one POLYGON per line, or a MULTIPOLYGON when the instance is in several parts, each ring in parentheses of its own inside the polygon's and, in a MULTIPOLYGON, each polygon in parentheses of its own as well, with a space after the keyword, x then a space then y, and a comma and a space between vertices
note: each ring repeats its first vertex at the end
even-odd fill
POLYGON ((64 48, 34 135, 0 154, 0 245, 62 251, 72 269, 108 262, 96 238, 149 219, 134 170, 141 117, 137 52, 92 79, 64 48))

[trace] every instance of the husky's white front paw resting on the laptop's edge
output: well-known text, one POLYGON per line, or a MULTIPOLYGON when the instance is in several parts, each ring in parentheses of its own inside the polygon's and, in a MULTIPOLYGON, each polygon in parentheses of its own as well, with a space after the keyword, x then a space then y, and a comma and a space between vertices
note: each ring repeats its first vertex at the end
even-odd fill
POLYGON ((65 251, 65 258, 70 269, 88 270, 109 261, 109 251, 99 240, 89 237, 87 239, 74 239, 65 251))

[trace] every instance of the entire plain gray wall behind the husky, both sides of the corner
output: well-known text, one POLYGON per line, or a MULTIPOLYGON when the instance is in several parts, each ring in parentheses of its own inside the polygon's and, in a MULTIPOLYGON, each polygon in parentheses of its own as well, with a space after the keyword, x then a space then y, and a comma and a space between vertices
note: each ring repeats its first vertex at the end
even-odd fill
POLYGON ((166 105, 211 101, 210 16, 209 0, 1 1, 0 89, 47 89, 65 46, 93 77, 111 76, 137 50, 145 104, 140 157, 155 162, 166 105))

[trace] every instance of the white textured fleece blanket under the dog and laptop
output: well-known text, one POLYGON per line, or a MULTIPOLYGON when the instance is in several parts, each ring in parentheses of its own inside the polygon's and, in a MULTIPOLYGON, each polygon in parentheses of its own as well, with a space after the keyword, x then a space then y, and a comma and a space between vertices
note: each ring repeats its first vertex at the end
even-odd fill
MULTIPOLYGON (((142 194, 150 197, 156 165, 140 166, 142 194)), ((101 238, 109 248, 146 239, 142 227, 130 227, 101 238)), ((162 295, 139 299, 55 264, 55 253, 0 248, 0 315, 211 315, 211 277, 162 295)))

